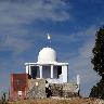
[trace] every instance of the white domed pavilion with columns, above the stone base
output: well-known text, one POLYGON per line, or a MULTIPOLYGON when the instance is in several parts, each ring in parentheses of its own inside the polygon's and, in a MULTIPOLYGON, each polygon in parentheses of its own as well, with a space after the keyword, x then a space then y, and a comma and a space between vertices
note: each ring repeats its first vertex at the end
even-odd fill
POLYGON ((47 79, 53 83, 68 82, 68 63, 57 62, 56 52, 52 48, 43 48, 36 63, 25 63, 26 74, 31 79, 47 79))

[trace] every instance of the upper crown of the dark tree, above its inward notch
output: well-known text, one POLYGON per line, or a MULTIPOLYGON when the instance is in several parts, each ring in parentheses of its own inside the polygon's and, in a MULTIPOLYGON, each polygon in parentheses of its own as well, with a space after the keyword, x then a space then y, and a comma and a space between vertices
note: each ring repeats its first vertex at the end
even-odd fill
POLYGON ((96 32, 95 47, 93 48, 92 64, 93 69, 103 78, 104 77, 104 27, 96 32))

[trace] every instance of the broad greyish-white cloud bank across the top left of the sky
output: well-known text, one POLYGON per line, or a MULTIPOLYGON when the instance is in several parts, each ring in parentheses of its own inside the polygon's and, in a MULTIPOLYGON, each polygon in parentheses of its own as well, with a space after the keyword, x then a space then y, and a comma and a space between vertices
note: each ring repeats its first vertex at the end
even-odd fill
POLYGON ((34 20, 67 21, 67 4, 62 0, 30 0, 22 2, 0 2, 0 25, 17 25, 34 20), (30 2, 31 1, 31 2, 30 2))

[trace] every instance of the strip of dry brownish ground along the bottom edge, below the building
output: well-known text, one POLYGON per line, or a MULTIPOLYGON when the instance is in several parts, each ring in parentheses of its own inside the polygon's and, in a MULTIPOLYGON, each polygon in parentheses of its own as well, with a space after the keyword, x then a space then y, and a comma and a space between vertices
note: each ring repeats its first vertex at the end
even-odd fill
MULTIPOLYGON (((4 103, 5 104, 5 103, 4 103)), ((17 100, 11 101, 8 104, 104 104, 103 100, 100 99, 81 99, 81 98, 69 98, 69 99, 37 99, 37 100, 17 100)))

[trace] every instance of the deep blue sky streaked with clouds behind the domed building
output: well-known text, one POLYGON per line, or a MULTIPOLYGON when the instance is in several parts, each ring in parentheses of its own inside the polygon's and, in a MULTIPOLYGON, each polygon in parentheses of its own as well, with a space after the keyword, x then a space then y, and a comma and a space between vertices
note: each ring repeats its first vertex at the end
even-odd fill
POLYGON ((0 0, 0 93, 8 91, 11 73, 24 73, 48 46, 58 61, 69 63, 69 80, 81 77, 89 95, 100 77, 91 64, 95 32, 104 24, 104 0, 0 0))

